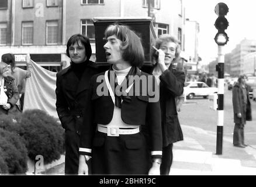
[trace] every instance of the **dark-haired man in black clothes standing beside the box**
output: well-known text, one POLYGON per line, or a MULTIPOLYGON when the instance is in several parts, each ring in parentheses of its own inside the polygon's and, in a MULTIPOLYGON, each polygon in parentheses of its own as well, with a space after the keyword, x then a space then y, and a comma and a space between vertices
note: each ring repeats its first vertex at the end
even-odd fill
POLYGON ((98 73, 96 64, 89 60, 91 54, 87 37, 71 36, 67 43, 71 65, 57 73, 56 109, 65 129, 65 174, 78 174, 79 127, 84 119, 89 79, 98 73))

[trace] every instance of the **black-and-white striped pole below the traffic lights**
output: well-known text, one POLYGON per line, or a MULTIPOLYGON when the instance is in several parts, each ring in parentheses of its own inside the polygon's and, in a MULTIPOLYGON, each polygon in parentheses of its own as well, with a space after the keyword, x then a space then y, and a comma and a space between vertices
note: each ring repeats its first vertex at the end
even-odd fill
POLYGON ((223 124, 224 124, 224 54, 223 46, 218 46, 218 64, 216 65, 218 71, 218 108, 217 108, 217 141, 216 154, 222 154, 223 144, 223 124))

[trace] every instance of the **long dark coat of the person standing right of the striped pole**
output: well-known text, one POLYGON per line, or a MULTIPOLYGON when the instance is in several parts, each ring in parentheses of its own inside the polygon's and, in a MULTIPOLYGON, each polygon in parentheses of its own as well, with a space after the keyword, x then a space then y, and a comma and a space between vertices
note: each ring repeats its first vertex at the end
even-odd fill
MULTIPOLYGON (((245 87, 246 88, 246 87, 245 87)), ((234 123, 238 124, 245 124, 246 121, 252 120, 251 116, 251 102, 250 97, 247 91, 247 106, 244 106, 244 95, 241 85, 237 82, 234 85, 233 91, 232 91, 232 102, 233 102, 233 110, 234 110, 234 123), (246 108, 246 113, 245 109, 246 108), (242 117, 237 117, 237 113, 241 113, 242 117)))

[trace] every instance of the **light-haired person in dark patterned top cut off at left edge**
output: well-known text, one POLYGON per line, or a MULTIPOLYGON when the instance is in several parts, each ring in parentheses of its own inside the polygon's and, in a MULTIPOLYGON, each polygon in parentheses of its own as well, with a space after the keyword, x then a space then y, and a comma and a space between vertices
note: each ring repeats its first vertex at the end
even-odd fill
POLYGON ((8 112, 19 99, 18 88, 15 79, 8 76, 9 65, 0 63, 0 113, 8 115, 8 112))

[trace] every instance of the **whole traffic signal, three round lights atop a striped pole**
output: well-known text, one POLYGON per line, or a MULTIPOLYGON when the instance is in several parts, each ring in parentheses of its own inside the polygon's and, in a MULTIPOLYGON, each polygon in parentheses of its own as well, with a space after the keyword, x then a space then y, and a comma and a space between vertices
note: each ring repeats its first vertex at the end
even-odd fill
POLYGON ((223 47, 229 41, 229 37, 225 30, 229 26, 229 22, 225 16, 229 12, 229 8, 223 2, 215 6, 215 13, 218 16, 215 22, 215 27, 218 33, 215 36, 215 42, 218 45, 218 64, 216 71, 218 72, 218 99, 217 99, 217 141, 216 141, 216 154, 222 154, 223 144, 223 126, 224 126, 224 54, 223 47))

